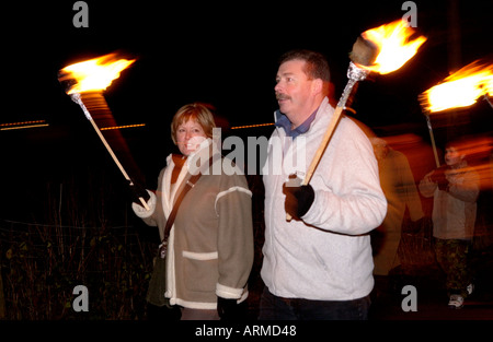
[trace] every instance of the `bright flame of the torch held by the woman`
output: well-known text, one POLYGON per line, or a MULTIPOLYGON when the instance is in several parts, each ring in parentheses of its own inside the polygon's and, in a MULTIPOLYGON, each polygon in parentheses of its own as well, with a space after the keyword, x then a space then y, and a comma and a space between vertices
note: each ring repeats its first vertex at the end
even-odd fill
POLYGON ((105 55, 79 63, 68 66, 60 81, 76 80, 67 94, 83 93, 92 91, 104 91, 112 84, 113 80, 119 78, 121 71, 128 68, 135 59, 116 59, 116 54, 105 55))

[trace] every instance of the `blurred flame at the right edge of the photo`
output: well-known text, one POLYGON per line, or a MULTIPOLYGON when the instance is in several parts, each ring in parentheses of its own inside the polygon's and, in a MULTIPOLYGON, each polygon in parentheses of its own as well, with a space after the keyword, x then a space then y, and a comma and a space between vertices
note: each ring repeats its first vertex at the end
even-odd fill
POLYGON ((425 110, 440 111, 471 106, 481 95, 493 96, 493 64, 477 60, 424 92, 420 102, 425 110))

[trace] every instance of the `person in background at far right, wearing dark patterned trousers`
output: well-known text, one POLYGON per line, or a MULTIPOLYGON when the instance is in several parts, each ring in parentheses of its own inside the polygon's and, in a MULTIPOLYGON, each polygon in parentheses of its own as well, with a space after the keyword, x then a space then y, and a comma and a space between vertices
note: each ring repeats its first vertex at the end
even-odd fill
POLYGON ((468 251, 474 235, 479 176, 468 166, 461 140, 445 149, 445 165, 420 182, 424 197, 433 197, 433 236, 437 262, 446 274, 450 308, 461 308, 472 292, 468 251))

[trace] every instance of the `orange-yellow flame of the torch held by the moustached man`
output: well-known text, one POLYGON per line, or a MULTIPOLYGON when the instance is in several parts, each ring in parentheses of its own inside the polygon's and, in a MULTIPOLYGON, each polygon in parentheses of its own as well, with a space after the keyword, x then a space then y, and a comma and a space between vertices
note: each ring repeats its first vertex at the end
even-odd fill
POLYGON ((365 31, 362 34, 363 38, 375 44, 379 49, 379 54, 372 66, 363 66, 363 68, 380 74, 390 73, 401 68, 417 52, 420 46, 426 42, 426 38, 423 36, 410 40, 413 34, 414 30, 403 20, 397 20, 365 31))

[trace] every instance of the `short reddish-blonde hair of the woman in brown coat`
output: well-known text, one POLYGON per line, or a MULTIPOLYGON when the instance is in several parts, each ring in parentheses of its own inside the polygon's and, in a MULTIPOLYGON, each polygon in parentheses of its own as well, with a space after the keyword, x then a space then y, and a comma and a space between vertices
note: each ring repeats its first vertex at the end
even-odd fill
POLYGON ((176 144, 176 130, 180 125, 194 119, 202 126, 207 138, 213 138, 213 128, 216 127, 214 115, 210 110, 214 107, 209 104, 193 103, 181 107, 171 121, 171 139, 176 144))

